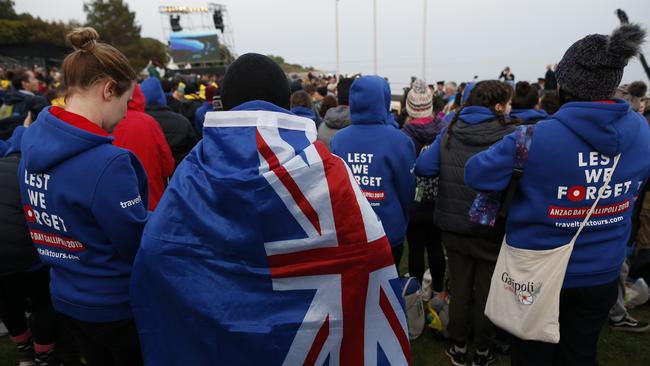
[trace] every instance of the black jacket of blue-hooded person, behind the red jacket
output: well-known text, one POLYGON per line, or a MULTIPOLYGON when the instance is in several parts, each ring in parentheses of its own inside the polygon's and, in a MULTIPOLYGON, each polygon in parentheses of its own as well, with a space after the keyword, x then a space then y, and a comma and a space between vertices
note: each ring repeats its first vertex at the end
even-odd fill
POLYGON ((167 106, 148 105, 145 112, 160 124, 178 166, 198 142, 194 127, 187 118, 167 106))

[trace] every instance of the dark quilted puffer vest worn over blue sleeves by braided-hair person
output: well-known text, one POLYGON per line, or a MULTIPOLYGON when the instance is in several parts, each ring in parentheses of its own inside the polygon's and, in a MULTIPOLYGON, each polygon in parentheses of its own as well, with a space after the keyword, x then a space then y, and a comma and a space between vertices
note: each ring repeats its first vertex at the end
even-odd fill
POLYGON ((434 221, 442 231, 469 236, 486 235, 486 227, 469 221, 468 213, 476 192, 465 185, 465 163, 514 130, 514 125, 502 126, 496 120, 473 125, 459 120, 453 126, 449 148, 446 137, 442 140, 434 214, 434 221))

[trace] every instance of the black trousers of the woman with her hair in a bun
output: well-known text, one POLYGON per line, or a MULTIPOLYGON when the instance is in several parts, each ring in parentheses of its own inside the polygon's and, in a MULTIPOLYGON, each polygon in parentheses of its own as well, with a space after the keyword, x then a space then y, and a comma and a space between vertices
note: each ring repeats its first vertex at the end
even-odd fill
POLYGON ((59 313, 88 366, 141 366, 140 340, 133 319, 90 323, 59 313))

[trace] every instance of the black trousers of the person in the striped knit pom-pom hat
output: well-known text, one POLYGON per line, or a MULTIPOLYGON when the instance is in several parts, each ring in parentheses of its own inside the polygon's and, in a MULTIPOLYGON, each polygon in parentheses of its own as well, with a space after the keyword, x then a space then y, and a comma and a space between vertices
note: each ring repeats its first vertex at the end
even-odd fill
POLYGON ((445 255, 442 251, 442 232, 431 221, 411 221, 406 230, 409 245, 409 274, 422 283, 424 276, 424 250, 427 251, 433 290, 441 292, 444 287, 445 255))

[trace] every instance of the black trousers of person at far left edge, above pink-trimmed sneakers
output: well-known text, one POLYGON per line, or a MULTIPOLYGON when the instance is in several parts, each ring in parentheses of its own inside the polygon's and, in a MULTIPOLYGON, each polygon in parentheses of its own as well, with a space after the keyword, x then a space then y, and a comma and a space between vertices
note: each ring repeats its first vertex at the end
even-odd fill
POLYGON ((57 334, 56 314, 50 298, 50 275, 46 267, 0 277, 0 319, 11 336, 31 328, 34 341, 52 344, 57 334), (25 312, 32 313, 31 324, 25 312))

